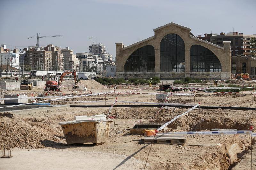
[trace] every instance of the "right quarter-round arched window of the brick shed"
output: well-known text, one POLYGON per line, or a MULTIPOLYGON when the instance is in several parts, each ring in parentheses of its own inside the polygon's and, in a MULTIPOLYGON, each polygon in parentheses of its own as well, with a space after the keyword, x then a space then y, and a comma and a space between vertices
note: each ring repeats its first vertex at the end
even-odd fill
POLYGON ((190 48, 191 72, 221 72, 220 60, 209 49, 192 45, 190 48))

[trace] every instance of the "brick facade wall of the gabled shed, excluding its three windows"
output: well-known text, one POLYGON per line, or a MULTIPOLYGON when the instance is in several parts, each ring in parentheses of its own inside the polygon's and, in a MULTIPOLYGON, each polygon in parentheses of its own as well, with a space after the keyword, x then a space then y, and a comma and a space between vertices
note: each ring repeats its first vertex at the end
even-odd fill
POLYGON ((190 28, 169 23, 154 29, 154 36, 130 46, 124 47, 123 43, 116 43, 116 76, 121 78, 158 76, 161 79, 177 79, 189 76, 202 79, 229 79, 231 71, 230 42, 224 42, 224 46, 220 47, 194 37, 190 30, 190 28), (185 72, 160 72, 160 42, 167 34, 177 34, 185 43, 185 72), (124 65, 129 56, 138 48, 146 45, 152 45, 155 49, 155 72, 124 72, 124 65), (201 45, 211 50, 220 60, 222 72, 190 72, 190 47, 192 45, 201 45))

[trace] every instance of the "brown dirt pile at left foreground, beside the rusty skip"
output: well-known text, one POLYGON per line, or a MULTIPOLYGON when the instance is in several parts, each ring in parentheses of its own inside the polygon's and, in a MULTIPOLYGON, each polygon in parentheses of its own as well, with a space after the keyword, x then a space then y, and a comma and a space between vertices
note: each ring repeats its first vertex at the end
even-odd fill
MULTIPOLYGON (((42 129, 46 129, 43 127, 42 129)), ((47 129, 49 131, 49 129, 47 129)), ((41 131, 11 113, 0 113, 0 149, 42 148, 44 141, 60 141, 50 132, 41 131)))

